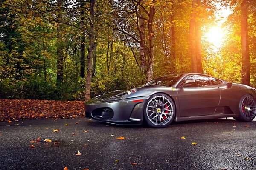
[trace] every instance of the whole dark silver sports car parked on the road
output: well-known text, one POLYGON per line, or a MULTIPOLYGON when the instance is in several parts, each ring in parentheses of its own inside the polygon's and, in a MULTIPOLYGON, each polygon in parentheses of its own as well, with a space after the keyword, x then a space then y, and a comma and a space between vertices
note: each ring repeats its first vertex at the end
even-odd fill
POLYGON ((113 124, 166 127, 175 121, 233 117, 252 121, 256 89, 199 73, 171 74, 128 91, 111 91, 85 104, 87 118, 113 124))

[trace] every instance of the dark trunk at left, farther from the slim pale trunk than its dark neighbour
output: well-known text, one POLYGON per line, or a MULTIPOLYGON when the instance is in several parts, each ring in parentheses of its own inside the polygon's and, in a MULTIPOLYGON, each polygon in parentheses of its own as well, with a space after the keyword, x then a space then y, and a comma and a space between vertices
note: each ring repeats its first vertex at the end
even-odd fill
POLYGON ((58 23, 57 24, 57 86, 61 86, 63 82, 63 43, 62 43, 62 0, 58 0, 58 23))

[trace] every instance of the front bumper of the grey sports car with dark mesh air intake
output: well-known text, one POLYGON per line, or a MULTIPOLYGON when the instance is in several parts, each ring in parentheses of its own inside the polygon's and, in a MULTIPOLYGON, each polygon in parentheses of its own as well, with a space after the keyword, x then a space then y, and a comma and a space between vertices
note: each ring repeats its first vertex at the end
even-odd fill
POLYGON ((85 116, 111 124, 142 124, 144 102, 150 96, 85 103, 85 116))

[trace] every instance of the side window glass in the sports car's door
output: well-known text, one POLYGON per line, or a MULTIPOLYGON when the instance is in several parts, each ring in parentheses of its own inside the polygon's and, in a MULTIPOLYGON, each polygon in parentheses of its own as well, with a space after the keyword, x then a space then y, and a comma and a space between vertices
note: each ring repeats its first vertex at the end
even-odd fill
POLYGON ((183 85, 183 87, 204 87, 204 86, 211 85, 210 79, 206 76, 192 74, 192 75, 185 77, 183 79, 183 81, 188 80, 188 79, 195 80, 195 82, 183 85))

